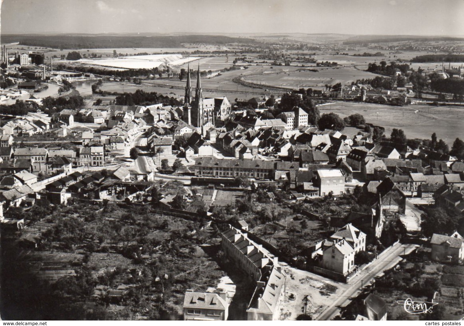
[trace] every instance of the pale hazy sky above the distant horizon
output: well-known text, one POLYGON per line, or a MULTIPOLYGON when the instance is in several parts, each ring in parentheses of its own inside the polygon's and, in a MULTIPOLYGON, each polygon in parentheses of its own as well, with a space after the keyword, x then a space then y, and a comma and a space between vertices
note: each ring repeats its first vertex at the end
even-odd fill
POLYGON ((464 36, 464 0, 2 0, 1 33, 464 36))

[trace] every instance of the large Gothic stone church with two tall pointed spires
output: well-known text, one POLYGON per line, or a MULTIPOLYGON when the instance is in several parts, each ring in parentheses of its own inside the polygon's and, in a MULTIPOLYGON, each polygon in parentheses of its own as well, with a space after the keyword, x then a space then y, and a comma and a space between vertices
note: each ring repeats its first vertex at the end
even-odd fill
POLYGON ((203 98, 203 90, 200 80, 200 63, 197 71, 197 87, 195 98, 192 98, 192 82, 190 79, 190 65, 187 68, 187 85, 184 96, 184 121, 194 127, 207 130, 211 127, 219 127, 232 113, 232 105, 226 97, 203 98))

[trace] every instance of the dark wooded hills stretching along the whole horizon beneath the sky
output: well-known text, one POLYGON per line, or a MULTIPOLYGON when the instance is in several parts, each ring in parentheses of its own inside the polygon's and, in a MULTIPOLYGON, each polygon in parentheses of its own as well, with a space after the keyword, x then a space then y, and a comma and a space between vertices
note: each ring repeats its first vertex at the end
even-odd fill
POLYGON ((185 44, 224 46, 232 43, 297 42, 308 44, 361 45, 367 43, 464 41, 462 36, 353 35, 336 33, 108 33, 108 34, 5 34, 1 43, 19 42, 21 46, 44 46, 61 49, 87 48, 181 48, 185 44))

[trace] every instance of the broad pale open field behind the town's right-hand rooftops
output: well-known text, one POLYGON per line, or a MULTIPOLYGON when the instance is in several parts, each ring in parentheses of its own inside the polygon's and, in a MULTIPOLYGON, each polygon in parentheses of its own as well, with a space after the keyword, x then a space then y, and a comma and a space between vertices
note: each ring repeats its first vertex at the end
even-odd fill
POLYGON ((319 107, 321 114, 334 112, 340 117, 359 113, 367 123, 385 127, 390 136, 393 128, 405 131, 408 138, 430 138, 433 132, 450 146, 456 137, 464 137, 462 107, 416 104, 399 107, 369 103, 336 103, 319 107))

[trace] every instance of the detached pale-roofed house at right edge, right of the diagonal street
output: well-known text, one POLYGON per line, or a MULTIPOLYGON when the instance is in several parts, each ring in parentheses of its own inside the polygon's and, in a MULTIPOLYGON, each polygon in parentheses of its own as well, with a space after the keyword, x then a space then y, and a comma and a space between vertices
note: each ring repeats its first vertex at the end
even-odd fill
POLYGON ((457 231, 450 236, 434 233, 430 246, 434 261, 464 260, 464 239, 457 231))

